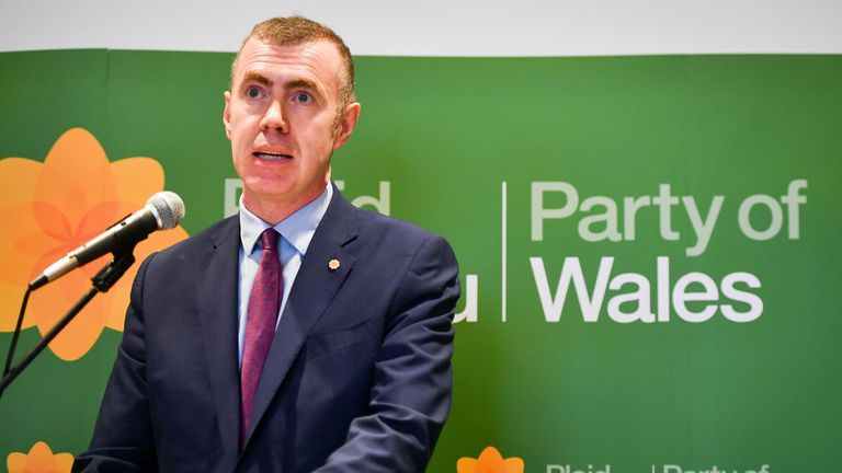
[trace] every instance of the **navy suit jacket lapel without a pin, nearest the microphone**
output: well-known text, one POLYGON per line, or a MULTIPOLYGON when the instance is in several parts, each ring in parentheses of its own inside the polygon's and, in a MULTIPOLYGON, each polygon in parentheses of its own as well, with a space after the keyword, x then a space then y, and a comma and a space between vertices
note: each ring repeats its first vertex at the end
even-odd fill
POLYGON ((217 408, 226 459, 236 459, 239 445, 240 376, 237 355, 237 280, 239 221, 225 220, 210 230, 212 243, 196 265, 198 326, 217 408))

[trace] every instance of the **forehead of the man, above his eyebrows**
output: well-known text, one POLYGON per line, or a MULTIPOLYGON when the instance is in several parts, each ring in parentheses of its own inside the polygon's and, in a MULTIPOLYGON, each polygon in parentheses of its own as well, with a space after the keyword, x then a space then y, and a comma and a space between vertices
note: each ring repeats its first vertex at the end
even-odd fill
POLYGON ((235 86, 247 73, 259 73, 277 83, 307 79, 328 91, 337 91, 340 71, 339 51, 327 41, 274 45, 252 37, 237 58, 235 86))

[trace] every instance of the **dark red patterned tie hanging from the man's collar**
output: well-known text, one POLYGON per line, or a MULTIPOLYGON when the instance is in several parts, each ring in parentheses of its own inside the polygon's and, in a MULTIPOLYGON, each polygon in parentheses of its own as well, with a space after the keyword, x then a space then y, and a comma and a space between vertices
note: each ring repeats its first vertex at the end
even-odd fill
POLYGON ((240 445, 249 431, 249 416, 254 406, 260 373, 266 360, 269 347, 277 325, 277 312, 284 293, 284 279, 281 274, 281 259, 277 257, 277 236, 275 229, 269 228, 260 235, 263 252, 260 267, 254 277, 249 297, 248 321, 246 322, 246 342, 242 349, 240 369, 240 445))

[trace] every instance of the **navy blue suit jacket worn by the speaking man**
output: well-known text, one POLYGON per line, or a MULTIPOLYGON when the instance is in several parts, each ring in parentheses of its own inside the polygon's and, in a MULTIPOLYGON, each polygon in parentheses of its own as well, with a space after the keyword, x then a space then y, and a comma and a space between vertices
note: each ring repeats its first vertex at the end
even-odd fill
POLYGON ((423 471, 451 404, 459 285, 447 242, 334 192, 241 449, 238 247, 232 217, 143 263, 75 471, 423 471))

